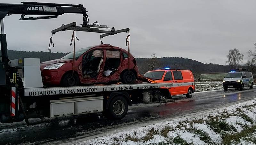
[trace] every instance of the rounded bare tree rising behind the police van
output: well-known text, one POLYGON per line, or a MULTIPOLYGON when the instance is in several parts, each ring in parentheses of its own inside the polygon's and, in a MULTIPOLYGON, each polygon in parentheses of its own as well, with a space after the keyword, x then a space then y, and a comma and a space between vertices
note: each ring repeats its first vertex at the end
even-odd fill
POLYGON ((239 66, 243 60, 244 55, 239 52, 238 49, 231 49, 229 50, 229 54, 227 55, 228 61, 226 61, 226 64, 228 64, 230 67, 236 67, 239 66))

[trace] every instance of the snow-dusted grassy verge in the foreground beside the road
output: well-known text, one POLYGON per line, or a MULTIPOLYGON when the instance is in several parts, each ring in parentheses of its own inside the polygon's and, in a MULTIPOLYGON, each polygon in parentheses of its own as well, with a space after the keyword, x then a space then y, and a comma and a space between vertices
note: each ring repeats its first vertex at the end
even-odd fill
POLYGON ((77 145, 255 145, 256 99, 175 120, 122 130, 77 145))

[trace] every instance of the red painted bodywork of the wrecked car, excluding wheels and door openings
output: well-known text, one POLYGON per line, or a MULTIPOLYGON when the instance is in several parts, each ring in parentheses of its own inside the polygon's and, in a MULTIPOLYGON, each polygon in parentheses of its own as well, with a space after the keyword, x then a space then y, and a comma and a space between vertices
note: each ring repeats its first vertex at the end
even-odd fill
MULTIPOLYGON (((136 78, 137 78, 137 76, 139 74, 139 68, 136 64, 134 57, 130 54, 130 66, 128 67, 128 58, 124 59, 122 52, 125 52, 128 54, 128 52, 126 50, 116 47, 116 46, 112 46, 112 45, 102 44, 102 45, 93 46, 88 51, 84 52, 78 59, 75 60, 74 71, 75 71, 75 73, 78 74, 78 76, 80 78, 80 82, 82 84, 108 83, 111 81, 119 81, 120 74, 124 70, 127 70, 128 68, 130 68, 133 72, 136 73, 136 78), (83 73, 82 73, 83 56, 92 50, 102 50, 103 51, 103 58, 102 58, 103 61, 100 65, 100 71, 98 72, 97 77, 84 79, 83 73), (118 67, 118 70, 114 74, 112 74, 108 77, 103 76, 103 69, 104 69, 104 65, 105 65, 105 61, 106 61, 106 50, 119 50, 120 51, 120 65, 118 67)), ((62 76, 69 71, 72 72, 72 64, 73 64, 72 59, 55 59, 55 60, 42 62, 40 68, 41 68, 41 72, 42 72, 43 79, 44 79, 43 84, 44 85, 55 85, 55 86, 61 85, 62 76), (52 69, 52 70, 44 69, 45 66, 49 66, 51 64, 57 64, 57 63, 63 63, 63 62, 65 64, 58 69, 52 69)))

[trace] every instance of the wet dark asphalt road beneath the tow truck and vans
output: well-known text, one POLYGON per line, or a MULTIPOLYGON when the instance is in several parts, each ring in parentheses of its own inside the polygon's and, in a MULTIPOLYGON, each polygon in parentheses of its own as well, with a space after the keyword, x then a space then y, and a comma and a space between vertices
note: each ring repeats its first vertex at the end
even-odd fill
POLYGON ((244 91, 230 89, 194 93, 173 97, 175 103, 134 104, 128 114, 118 121, 111 121, 101 114, 63 117, 59 119, 29 119, 26 123, 0 123, 0 144, 70 144, 115 132, 220 108, 256 98, 256 89, 244 91))

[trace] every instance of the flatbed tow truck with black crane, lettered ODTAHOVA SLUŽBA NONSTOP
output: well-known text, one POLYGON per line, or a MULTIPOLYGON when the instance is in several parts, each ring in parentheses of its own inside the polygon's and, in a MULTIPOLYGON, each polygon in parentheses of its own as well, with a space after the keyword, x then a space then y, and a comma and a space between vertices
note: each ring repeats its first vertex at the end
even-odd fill
POLYGON ((100 35, 101 39, 105 36, 130 31, 129 28, 116 31, 114 27, 110 28, 110 31, 99 30, 99 28, 109 29, 109 27, 98 25, 98 23, 89 24, 87 10, 82 4, 0 3, 2 53, 2 62, 0 62, 1 123, 25 120, 29 124, 28 118, 57 118, 97 112, 102 112, 108 118, 122 119, 127 114, 128 106, 132 105, 132 100, 134 99, 142 99, 148 96, 150 101, 161 101, 160 96, 170 96, 168 89, 164 88, 172 87, 172 83, 46 87, 42 83, 40 59, 8 59, 4 17, 12 14, 21 14, 20 20, 37 20, 57 18, 65 13, 82 14, 83 24, 76 26, 74 22, 62 25, 60 28, 54 29, 52 34, 66 30, 96 32, 103 33, 100 35), (26 17, 26 15, 36 16, 26 17))

